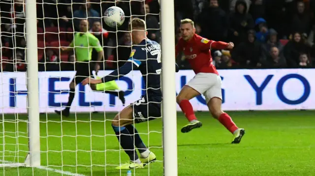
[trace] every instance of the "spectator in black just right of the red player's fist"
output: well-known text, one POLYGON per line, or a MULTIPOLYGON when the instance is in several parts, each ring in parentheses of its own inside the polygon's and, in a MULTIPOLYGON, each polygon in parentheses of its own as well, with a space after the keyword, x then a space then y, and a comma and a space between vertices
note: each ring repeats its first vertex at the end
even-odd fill
POLYGON ((255 41, 255 31, 249 30, 247 40, 232 50, 232 58, 243 67, 260 67, 261 46, 255 41))

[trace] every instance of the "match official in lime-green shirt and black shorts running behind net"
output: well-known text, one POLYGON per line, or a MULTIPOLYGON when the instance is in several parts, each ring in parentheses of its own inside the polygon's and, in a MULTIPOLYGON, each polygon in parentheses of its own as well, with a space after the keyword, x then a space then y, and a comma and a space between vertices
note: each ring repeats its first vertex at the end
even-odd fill
MULTIPOLYGON (((76 74, 72 81, 70 82, 70 92, 69 99, 65 109, 62 111, 55 111, 57 114, 68 117, 71 103, 74 99, 75 95, 75 87, 79 84, 83 79, 87 77, 91 77, 92 69, 90 69, 90 61, 92 60, 92 50, 93 48, 97 51, 97 61, 101 61, 103 58, 103 48, 100 45, 98 39, 91 33, 88 32, 88 21, 81 20, 80 22, 80 32, 74 35, 74 39, 71 44, 67 48, 61 48, 62 51, 70 51, 73 50, 75 52, 76 62, 75 62, 75 71, 76 74)), ((99 70, 99 63, 95 63, 95 72, 99 70)), ((124 91, 114 91, 119 89, 117 83, 115 81, 110 81, 106 83, 90 85, 91 89, 94 91, 105 91, 105 93, 113 94, 118 96, 119 99, 125 104, 124 91)))

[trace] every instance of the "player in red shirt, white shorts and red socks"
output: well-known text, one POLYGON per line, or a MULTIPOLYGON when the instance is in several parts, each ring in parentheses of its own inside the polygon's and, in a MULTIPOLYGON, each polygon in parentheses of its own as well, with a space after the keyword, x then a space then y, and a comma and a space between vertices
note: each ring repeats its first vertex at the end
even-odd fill
POLYGON ((240 143, 245 134, 243 128, 238 128, 231 117, 221 110, 221 77, 212 64, 211 49, 231 50, 233 43, 215 42, 195 34, 194 23, 190 19, 181 21, 182 37, 176 45, 176 55, 184 51, 195 76, 182 88, 176 98, 177 103, 184 112, 189 124, 182 128, 182 132, 189 132, 202 126, 193 112, 190 99, 203 94, 206 98, 212 116, 219 120, 233 135, 232 143, 240 143))

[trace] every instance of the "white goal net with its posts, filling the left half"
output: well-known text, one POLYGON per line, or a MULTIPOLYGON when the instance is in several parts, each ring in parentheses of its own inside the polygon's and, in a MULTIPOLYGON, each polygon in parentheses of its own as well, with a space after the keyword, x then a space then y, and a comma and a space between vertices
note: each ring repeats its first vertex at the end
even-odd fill
MULTIPOLYGON (((132 18, 145 20, 148 38, 162 43, 161 77, 167 79, 162 79, 162 117, 134 125, 148 149, 157 155, 157 161, 130 171, 132 176, 177 176, 175 30, 174 6, 170 2, 0 1, 3 176, 129 176, 127 170, 115 169, 129 158, 111 123, 119 111, 146 93, 141 73, 134 70, 93 89, 80 84, 82 79, 76 73, 99 78, 122 66, 132 53, 132 37, 127 30, 132 18), (103 14, 111 6, 124 10, 122 26, 105 25, 103 14), (88 22, 89 33, 102 46, 101 61, 96 50, 88 60, 82 60, 73 49, 67 50, 82 30, 82 20, 88 22), (98 72, 94 71, 95 63, 100 65, 98 72), (75 84, 71 83, 73 79, 75 84)), ((86 50, 90 47, 84 43, 80 46, 86 50)))

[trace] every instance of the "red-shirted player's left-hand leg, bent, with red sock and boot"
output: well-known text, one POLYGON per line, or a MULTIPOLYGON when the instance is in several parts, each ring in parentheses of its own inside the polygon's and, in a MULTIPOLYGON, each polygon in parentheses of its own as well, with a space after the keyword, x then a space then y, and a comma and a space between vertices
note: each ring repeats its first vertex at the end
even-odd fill
POLYGON ((177 103, 179 104, 187 120, 189 121, 188 125, 182 127, 182 133, 189 132, 194 128, 199 128, 202 126, 202 123, 197 120, 195 113, 193 112, 192 105, 189 102, 190 99, 198 95, 200 95, 199 92, 185 85, 176 97, 177 103))

